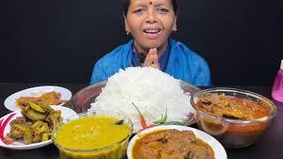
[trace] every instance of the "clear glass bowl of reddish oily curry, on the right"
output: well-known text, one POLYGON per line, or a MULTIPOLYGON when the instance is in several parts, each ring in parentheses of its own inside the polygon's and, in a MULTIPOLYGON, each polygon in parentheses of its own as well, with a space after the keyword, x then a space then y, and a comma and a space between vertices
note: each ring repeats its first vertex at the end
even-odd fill
POLYGON ((216 87, 191 98, 198 128, 214 136, 225 148, 243 148, 256 142, 275 117, 273 102, 256 93, 216 87))

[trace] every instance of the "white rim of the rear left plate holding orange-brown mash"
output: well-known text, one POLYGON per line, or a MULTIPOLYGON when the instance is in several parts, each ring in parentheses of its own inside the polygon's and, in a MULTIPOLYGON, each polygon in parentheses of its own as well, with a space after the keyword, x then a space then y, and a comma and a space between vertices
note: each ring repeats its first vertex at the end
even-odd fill
POLYGON ((69 89, 65 88, 65 87, 51 86, 51 85, 39 86, 39 87, 28 87, 26 89, 19 90, 18 92, 15 92, 15 93, 9 95, 8 97, 6 97, 5 100, 4 100, 4 107, 7 110, 11 110, 13 112, 18 111, 19 108, 16 108, 15 105, 11 106, 11 104, 8 103, 9 101, 15 100, 15 98, 13 96, 18 95, 18 94, 20 94, 22 92, 31 92, 31 91, 33 91, 36 88, 41 89, 41 88, 45 88, 45 87, 51 87, 51 88, 57 88, 57 89, 65 90, 65 92, 67 93, 66 95, 68 96, 68 99, 65 99, 65 100, 69 101, 72 98, 72 95, 73 95, 72 92, 69 89))

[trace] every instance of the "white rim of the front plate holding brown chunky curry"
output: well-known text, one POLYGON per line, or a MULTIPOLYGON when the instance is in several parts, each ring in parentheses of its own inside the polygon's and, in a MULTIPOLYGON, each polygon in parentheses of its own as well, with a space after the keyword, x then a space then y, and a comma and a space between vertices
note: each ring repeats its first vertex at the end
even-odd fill
POLYGON ((132 148, 134 146, 134 142, 136 140, 138 140, 139 138, 141 138, 143 134, 151 133, 151 132, 154 132, 154 131, 157 131, 157 130, 169 130, 169 129, 177 129, 179 131, 181 131, 181 130, 193 131, 195 133, 195 136, 197 136, 197 138, 200 138, 199 137, 200 135, 204 135, 204 136, 208 137, 210 140, 212 140, 212 142, 214 144, 216 144, 218 146, 218 148, 219 148, 218 150, 221 152, 221 154, 217 155, 215 147, 212 147, 211 143, 209 143, 208 141, 201 139, 204 142, 206 142, 207 144, 209 144, 210 148, 213 149, 214 155, 215 155, 215 159, 227 159, 226 149, 213 136, 211 136, 210 134, 205 133, 205 132, 203 132, 201 130, 198 130, 198 129, 194 128, 194 127, 188 127, 188 126, 183 126, 183 125, 159 125, 159 126, 156 126, 156 127, 151 127, 149 129, 145 129, 145 130, 143 130, 140 133, 136 133, 134 135, 134 137, 128 143, 128 146, 126 148, 126 156, 129 159, 132 158, 132 148))

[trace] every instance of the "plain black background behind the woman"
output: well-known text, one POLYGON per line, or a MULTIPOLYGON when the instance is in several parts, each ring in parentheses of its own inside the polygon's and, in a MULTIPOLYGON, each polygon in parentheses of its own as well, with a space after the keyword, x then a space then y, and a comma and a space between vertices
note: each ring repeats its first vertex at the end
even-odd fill
MULTIPOLYGON (((172 36, 210 64, 217 86, 272 86, 283 58, 283 1, 179 0, 172 36)), ((119 0, 0 1, 0 82, 88 83, 127 42, 119 0)))

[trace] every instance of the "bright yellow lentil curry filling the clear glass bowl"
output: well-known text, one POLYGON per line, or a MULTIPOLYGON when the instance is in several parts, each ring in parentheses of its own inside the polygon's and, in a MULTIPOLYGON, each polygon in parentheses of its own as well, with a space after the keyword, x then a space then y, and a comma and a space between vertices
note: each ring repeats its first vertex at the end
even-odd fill
POLYGON ((126 124, 115 125, 117 121, 119 118, 116 117, 80 117, 59 128, 57 144, 83 150, 111 146, 129 134, 126 124))

